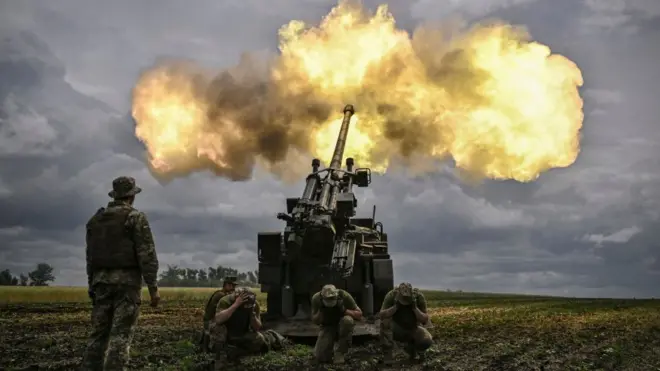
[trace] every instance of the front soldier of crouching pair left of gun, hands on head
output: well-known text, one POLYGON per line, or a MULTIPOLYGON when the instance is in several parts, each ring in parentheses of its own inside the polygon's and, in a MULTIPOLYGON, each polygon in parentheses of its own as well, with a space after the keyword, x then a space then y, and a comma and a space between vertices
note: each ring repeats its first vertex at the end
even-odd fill
POLYGON ((261 315, 256 295, 238 288, 218 301, 215 319, 209 333, 216 354, 215 369, 222 370, 228 360, 241 355, 266 353, 280 349, 284 338, 274 331, 261 332, 261 315), (229 347, 235 351, 228 352, 229 347))

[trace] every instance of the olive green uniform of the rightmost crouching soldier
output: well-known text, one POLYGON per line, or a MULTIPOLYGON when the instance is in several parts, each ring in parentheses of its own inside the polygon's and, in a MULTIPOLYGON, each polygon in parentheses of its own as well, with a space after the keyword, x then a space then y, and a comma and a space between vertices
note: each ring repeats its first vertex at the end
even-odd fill
POLYGON ((433 345, 431 333, 420 326, 413 312, 416 303, 422 313, 427 313, 426 298, 424 294, 408 285, 412 300, 410 305, 402 305, 397 302, 397 295, 401 289, 401 286, 397 287, 385 295, 381 312, 395 305, 398 306, 398 309, 391 318, 381 319, 380 339, 385 351, 391 352, 394 341, 400 341, 406 344, 406 353, 414 357, 417 352, 424 352, 433 345))

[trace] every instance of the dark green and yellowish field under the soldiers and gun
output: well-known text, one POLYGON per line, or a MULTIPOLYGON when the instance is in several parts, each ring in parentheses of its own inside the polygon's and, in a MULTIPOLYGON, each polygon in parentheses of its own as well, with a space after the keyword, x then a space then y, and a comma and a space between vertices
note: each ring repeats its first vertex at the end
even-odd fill
MULTIPOLYGON (((131 348, 134 370, 207 370, 193 339, 214 289, 163 288, 143 306, 131 348)), ((660 370, 660 300, 568 299, 425 292, 436 344, 406 370, 660 370)), ((146 292, 143 298, 147 298, 146 292)), ((261 304, 263 297, 260 297, 261 304)), ((89 330, 84 288, 0 287, 0 370, 74 370, 89 330)), ((311 347, 248 357, 242 370, 311 369, 311 347)), ((380 370, 377 342, 354 346, 344 367, 380 370)))

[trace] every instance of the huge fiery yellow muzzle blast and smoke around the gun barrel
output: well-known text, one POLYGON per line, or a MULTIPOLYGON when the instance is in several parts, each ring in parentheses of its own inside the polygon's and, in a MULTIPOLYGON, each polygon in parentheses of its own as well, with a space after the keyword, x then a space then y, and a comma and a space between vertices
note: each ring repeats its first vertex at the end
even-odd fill
POLYGON ((280 53, 246 53, 229 69, 160 61, 133 94, 136 136, 162 178, 212 171, 285 179, 331 157, 344 105, 356 115, 345 157, 385 172, 394 162, 451 157, 474 178, 531 181, 579 153, 579 68, 524 28, 462 32, 425 24, 412 35, 386 6, 340 1, 318 26, 292 21, 280 53))

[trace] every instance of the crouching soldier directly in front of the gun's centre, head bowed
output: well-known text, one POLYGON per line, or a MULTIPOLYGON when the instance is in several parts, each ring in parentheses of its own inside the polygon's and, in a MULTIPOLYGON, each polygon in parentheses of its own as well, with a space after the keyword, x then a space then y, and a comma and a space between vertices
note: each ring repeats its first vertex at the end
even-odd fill
POLYGON ((334 285, 325 285, 312 296, 312 322, 321 326, 314 356, 319 363, 344 363, 353 337, 355 321, 362 318, 362 310, 355 299, 345 290, 334 285), (337 341, 337 352, 333 347, 337 341), (334 359, 333 359, 334 358, 334 359))

